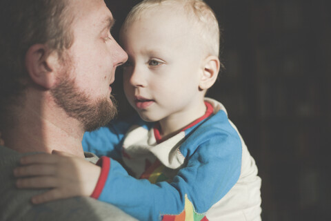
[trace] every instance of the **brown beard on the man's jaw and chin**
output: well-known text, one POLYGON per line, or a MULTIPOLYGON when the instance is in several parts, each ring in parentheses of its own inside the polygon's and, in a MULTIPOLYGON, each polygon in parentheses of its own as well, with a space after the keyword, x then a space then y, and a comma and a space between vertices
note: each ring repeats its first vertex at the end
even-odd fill
POLYGON ((112 95, 91 101, 90 96, 74 85, 74 79, 64 78, 59 86, 51 90, 55 102, 70 117, 79 120, 85 131, 94 131, 105 126, 117 115, 116 101, 112 95))

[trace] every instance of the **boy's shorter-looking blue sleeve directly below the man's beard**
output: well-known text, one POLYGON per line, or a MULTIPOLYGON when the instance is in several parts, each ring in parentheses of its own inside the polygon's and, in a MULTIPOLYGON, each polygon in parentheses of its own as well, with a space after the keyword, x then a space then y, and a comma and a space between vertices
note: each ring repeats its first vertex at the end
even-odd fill
POLYGON ((107 126, 103 126, 96 131, 86 132, 83 136, 82 145, 86 152, 95 155, 108 156, 114 159, 121 157, 121 146, 124 135, 134 122, 136 117, 131 117, 128 121, 112 121, 107 126))

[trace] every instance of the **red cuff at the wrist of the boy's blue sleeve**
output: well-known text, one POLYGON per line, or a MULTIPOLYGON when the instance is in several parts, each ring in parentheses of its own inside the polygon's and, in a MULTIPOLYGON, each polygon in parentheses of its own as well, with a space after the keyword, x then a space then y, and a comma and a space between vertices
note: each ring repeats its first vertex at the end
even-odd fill
POLYGON ((91 195, 91 198, 98 199, 101 195, 101 192, 103 190, 103 187, 106 184, 106 180, 108 178, 108 173, 110 170, 110 158, 108 157, 100 157, 100 159, 97 162, 97 166, 101 166, 101 173, 99 176, 99 180, 97 182, 97 185, 94 188, 94 191, 91 195))

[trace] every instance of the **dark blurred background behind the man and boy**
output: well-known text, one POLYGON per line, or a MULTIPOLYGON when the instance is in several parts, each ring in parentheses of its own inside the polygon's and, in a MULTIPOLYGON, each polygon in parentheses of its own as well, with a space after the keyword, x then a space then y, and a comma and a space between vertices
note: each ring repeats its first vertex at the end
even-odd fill
MULTIPOLYGON (((107 1, 119 28, 140 1, 107 1)), ((209 0, 225 39, 222 102, 262 178, 264 221, 330 220, 330 1, 209 0)), ((133 113, 117 72, 119 117, 133 113)))

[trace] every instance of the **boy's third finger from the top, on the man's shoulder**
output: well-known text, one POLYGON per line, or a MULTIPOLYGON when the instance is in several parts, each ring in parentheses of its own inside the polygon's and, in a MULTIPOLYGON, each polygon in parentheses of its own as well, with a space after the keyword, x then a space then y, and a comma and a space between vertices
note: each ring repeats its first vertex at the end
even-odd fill
POLYGON ((16 186, 19 189, 54 188, 59 186, 59 183, 54 177, 42 176, 18 179, 16 186))

